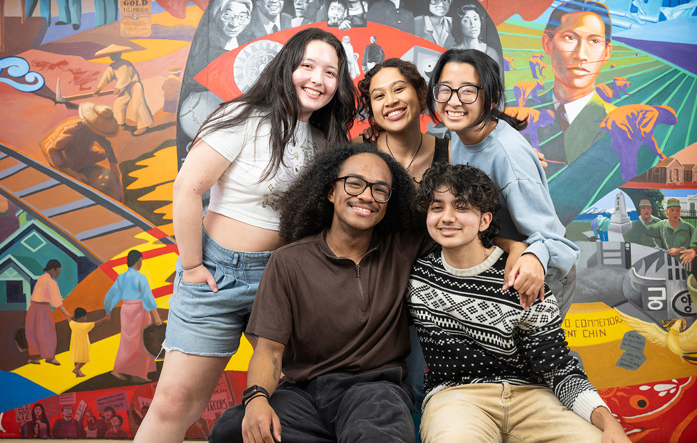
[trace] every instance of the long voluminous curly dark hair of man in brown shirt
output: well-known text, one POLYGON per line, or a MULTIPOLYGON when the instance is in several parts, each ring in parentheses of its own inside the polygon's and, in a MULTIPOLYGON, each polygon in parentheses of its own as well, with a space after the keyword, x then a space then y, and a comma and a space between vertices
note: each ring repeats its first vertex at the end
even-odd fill
POLYGON ((329 226, 334 204, 327 198, 344 162, 356 154, 370 153, 385 160, 392 173, 392 196, 385 217, 375 227, 379 232, 415 231, 425 228, 423 212, 415 208, 415 185, 411 177, 390 155, 381 153, 372 143, 342 143, 314 157, 282 196, 279 233, 286 243, 316 234, 329 226))

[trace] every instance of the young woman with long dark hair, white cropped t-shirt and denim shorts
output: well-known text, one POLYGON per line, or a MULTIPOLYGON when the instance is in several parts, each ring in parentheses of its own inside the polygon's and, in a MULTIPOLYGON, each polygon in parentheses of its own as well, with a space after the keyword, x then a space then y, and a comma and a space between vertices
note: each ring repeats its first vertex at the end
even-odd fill
POLYGON ((167 352, 136 442, 181 442, 204 412, 238 348, 270 251, 282 245, 278 199, 316 151, 346 140, 355 98, 342 43, 305 29, 199 130, 174 182, 180 256, 167 352))

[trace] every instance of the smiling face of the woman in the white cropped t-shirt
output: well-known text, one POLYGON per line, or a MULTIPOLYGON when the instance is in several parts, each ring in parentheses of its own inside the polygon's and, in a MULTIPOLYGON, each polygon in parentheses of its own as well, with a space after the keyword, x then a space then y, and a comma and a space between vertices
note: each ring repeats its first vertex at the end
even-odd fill
POLYGON ((293 71, 293 84, 300 100, 300 121, 323 108, 337 91, 339 56, 328 43, 313 40, 305 47, 305 56, 293 71))

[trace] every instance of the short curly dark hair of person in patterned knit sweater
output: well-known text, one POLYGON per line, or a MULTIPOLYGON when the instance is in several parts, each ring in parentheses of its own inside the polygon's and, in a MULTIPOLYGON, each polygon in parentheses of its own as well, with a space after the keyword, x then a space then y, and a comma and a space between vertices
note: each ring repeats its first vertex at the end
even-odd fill
POLYGON ((416 192, 416 206, 427 212, 434 200, 434 194, 441 187, 447 187, 454 196, 467 207, 484 212, 491 212, 489 228, 479 233, 484 247, 493 245, 493 238, 500 231, 496 212, 501 207, 501 189, 496 186, 484 171, 469 164, 434 163, 424 173, 416 192))

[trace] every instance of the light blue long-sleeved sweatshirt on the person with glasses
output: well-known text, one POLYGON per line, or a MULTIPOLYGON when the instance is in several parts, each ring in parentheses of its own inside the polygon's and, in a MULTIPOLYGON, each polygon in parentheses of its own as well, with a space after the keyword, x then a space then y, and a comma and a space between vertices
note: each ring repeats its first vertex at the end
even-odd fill
POLYGON ((498 235, 528 244, 524 254, 535 254, 546 281, 556 281, 579 261, 579 247, 566 232, 554 210, 547 180, 530 143, 503 120, 476 145, 462 143, 451 133, 453 164, 470 164, 489 175, 502 189, 498 235))

